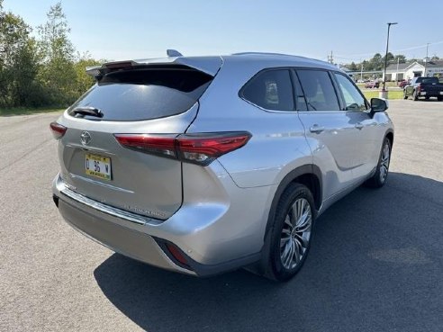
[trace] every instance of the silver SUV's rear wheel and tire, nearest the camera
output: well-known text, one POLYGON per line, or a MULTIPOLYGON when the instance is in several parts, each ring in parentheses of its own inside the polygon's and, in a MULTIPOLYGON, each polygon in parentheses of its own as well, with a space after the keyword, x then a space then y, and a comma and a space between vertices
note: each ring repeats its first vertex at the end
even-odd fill
POLYGON ((262 275, 285 282, 298 273, 311 247, 315 217, 310 190, 303 184, 289 184, 267 233, 262 275))

